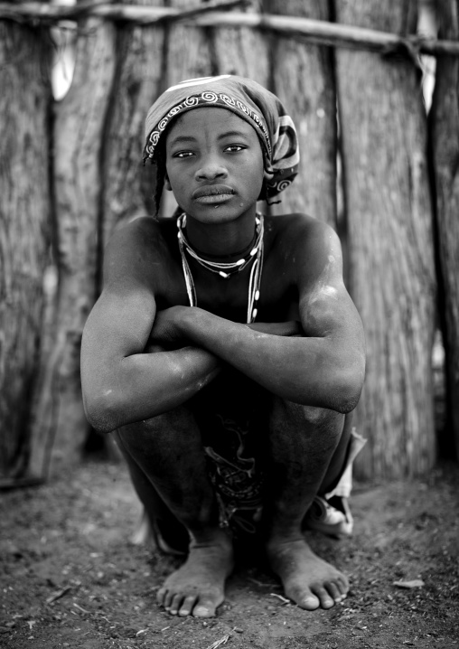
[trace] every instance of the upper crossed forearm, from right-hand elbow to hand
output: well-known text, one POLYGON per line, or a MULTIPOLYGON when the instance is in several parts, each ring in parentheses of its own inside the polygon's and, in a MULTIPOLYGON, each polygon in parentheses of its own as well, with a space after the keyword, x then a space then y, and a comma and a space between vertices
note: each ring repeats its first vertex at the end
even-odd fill
POLYGON ((179 328, 191 343, 286 400, 348 411, 360 396, 363 354, 345 341, 267 334, 196 307, 183 311, 179 328))

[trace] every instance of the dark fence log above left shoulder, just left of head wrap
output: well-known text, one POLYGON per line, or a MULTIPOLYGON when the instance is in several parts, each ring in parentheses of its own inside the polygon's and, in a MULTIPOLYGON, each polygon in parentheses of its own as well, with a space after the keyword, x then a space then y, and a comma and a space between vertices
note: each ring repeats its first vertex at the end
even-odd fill
MULTIPOLYGON (((164 6, 163 0, 142 4, 164 6)), ((163 49, 164 27, 125 26, 118 31, 117 74, 103 155, 101 249, 117 224, 152 210, 153 172, 143 166, 142 150, 146 112, 164 83, 163 49)))

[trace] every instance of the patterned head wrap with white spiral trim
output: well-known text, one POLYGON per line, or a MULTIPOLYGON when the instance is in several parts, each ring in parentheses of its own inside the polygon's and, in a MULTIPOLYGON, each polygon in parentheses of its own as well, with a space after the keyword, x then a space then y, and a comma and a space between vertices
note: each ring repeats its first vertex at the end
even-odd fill
POLYGON ((155 164, 156 146, 174 118, 209 107, 231 110, 255 128, 265 154, 267 198, 292 183, 300 159, 292 118, 272 92, 256 81, 230 74, 182 81, 156 99, 145 120, 144 165, 155 164))

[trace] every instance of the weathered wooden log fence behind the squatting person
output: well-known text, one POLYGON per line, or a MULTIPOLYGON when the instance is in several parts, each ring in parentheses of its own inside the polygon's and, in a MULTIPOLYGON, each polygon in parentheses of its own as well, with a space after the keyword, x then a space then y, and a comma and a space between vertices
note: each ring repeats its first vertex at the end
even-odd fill
POLYGON ((359 474, 421 475, 435 464, 437 328, 448 380, 443 441, 452 454, 454 440, 459 447, 456 0, 441 3, 442 40, 431 42, 414 35, 413 0, 225 5, 239 10, 212 14, 197 0, 0 2, 4 484, 79 461, 89 432, 80 340, 103 249, 120 224, 151 211, 151 168, 140 160, 146 110, 179 80, 221 73, 258 80, 286 103, 302 163, 281 211, 311 213, 342 236, 368 345, 355 414, 369 438, 359 474), (55 24, 78 25, 61 101, 50 82, 55 24), (437 57, 428 121, 419 52, 437 57))

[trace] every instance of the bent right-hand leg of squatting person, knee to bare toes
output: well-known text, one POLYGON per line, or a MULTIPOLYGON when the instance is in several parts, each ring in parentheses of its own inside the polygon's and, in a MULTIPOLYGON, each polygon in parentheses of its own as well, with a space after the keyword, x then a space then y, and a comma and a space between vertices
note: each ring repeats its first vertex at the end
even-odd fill
POLYGON ((344 416, 273 398, 266 461, 264 532, 271 567, 299 607, 330 608, 349 585, 304 539, 304 515, 314 496, 339 475, 349 432, 344 416), (341 461, 341 460, 340 460, 341 461))

